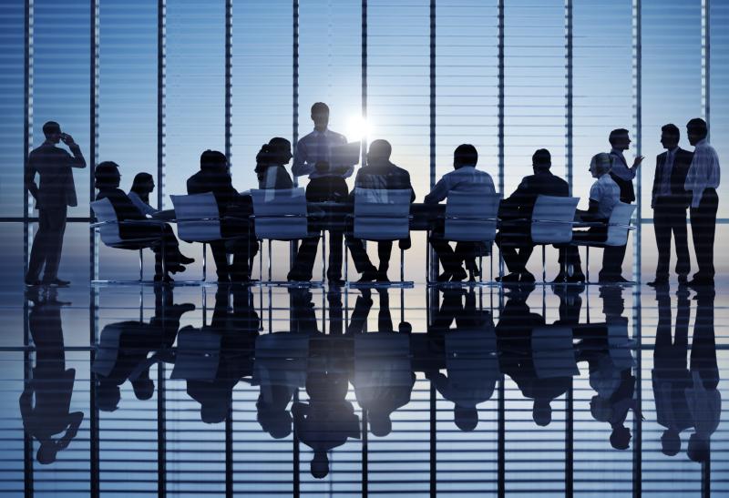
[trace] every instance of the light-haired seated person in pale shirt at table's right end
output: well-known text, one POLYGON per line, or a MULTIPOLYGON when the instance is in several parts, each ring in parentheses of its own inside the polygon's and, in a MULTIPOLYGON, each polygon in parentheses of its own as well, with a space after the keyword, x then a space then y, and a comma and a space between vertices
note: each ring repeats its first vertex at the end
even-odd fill
MULTIPOLYGON (((608 238, 607 222, 612 214, 612 208, 620 201, 621 196, 620 187, 610 175, 611 164, 610 155, 604 152, 592 157, 590 174, 597 180, 590 187, 590 207, 587 211, 577 211, 577 217, 582 221, 599 221, 606 225, 591 227, 589 230, 576 230, 572 235, 573 240, 604 242, 608 238)), ((553 280, 553 283, 583 281, 585 281, 585 275, 582 273, 580 252, 577 246, 569 245, 560 248, 560 274, 553 280), (570 265, 573 269, 571 274, 570 265)))

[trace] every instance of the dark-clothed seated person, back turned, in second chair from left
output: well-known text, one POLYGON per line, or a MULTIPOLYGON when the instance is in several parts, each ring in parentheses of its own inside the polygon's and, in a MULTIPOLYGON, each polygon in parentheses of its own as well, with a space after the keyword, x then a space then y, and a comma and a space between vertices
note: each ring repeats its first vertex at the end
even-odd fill
POLYGON ((200 171, 188 178, 188 194, 212 192, 218 203, 221 233, 226 239, 210 242, 212 257, 218 273, 218 282, 248 281, 251 279, 251 260, 258 246, 249 217, 252 214, 250 196, 241 196, 233 188, 228 159, 217 150, 206 150, 200 155, 200 171), (228 265, 227 254, 232 252, 233 264, 228 265))

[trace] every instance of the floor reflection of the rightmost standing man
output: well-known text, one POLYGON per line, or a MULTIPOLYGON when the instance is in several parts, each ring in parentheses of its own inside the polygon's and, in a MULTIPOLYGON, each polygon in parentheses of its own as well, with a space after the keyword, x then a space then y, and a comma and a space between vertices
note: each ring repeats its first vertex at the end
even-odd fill
POLYGON ((689 438, 688 455, 693 462, 708 462, 709 440, 722 417, 722 395, 717 390, 719 367, 716 362, 713 288, 703 287, 696 293, 689 371, 693 385, 685 392, 694 431, 689 438))

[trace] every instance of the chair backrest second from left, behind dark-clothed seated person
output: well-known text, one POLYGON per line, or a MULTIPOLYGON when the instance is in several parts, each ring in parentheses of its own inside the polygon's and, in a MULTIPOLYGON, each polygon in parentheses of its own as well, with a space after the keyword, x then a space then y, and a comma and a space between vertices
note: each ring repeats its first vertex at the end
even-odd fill
POLYGON ((218 203, 212 192, 169 196, 175 207, 178 237, 187 242, 222 239, 218 203))

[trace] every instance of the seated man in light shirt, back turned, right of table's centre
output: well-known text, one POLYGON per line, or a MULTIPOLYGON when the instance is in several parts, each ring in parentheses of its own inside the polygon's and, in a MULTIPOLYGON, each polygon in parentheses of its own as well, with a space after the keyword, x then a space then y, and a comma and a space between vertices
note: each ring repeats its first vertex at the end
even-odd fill
MULTIPOLYGON (((447 173, 440 178, 433 190, 426 195, 426 204, 436 204, 448 197, 450 192, 467 192, 481 195, 492 195, 496 193, 494 180, 486 171, 476 169, 478 152, 476 147, 470 144, 462 144, 453 153, 454 171, 447 173)), ((436 229, 437 231, 437 229, 436 229)), ((440 233, 443 233, 441 227, 440 233)), ((443 274, 438 281, 458 281, 466 278, 466 271, 461 266, 461 261, 466 262, 468 271, 471 273, 471 280, 475 281, 476 273, 476 244, 474 242, 458 242, 456 252, 451 249, 447 240, 438 237, 431 237, 430 243, 436 249, 440 264, 443 265, 443 274)))

